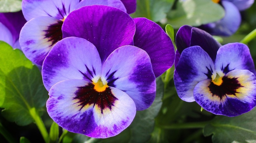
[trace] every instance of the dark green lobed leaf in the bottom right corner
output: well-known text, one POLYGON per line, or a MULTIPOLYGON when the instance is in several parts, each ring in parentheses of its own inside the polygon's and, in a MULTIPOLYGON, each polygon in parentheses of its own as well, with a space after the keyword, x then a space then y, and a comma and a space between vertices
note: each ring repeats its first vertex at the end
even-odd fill
POLYGON ((212 141, 256 142, 256 109, 237 117, 217 116, 203 129, 205 136, 212 135, 212 141))

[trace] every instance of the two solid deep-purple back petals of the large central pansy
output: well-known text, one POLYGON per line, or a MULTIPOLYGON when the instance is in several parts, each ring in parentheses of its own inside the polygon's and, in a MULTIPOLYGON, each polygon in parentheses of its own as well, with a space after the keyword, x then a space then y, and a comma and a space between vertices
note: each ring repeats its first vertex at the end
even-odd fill
POLYGON ((175 57, 170 38, 158 24, 146 18, 132 19, 113 7, 95 5, 74 10, 64 21, 62 32, 63 38, 74 36, 93 43, 102 63, 118 47, 139 47, 148 53, 156 77, 172 66, 175 57))

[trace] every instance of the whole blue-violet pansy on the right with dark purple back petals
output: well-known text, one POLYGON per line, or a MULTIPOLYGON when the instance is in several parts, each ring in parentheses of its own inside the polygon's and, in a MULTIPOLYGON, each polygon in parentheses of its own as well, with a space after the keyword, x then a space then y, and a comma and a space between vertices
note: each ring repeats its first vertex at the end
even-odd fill
POLYGON ((179 97, 203 109, 237 116, 256 105, 256 78, 248 47, 221 46, 205 31, 182 26, 176 36, 174 83, 179 97))

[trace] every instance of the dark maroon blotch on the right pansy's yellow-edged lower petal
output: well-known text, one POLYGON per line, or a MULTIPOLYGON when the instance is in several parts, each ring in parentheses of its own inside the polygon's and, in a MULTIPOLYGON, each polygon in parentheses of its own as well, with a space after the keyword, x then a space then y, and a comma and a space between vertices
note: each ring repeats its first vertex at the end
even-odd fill
POLYGON ((222 100, 222 98, 226 95, 236 96, 236 93, 239 93, 236 90, 239 87, 243 87, 237 78, 228 78, 224 76, 222 80, 223 83, 220 86, 215 85, 213 82, 211 82, 211 84, 208 86, 212 96, 219 96, 220 100, 222 100))

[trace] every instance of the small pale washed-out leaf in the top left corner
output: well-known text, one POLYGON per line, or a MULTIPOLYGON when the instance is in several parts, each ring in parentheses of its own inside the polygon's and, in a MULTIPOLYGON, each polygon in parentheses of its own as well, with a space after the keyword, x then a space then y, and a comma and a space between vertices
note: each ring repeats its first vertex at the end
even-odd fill
POLYGON ((0 0, 0 12, 16 12, 21 10, 21 0, 0 0))

